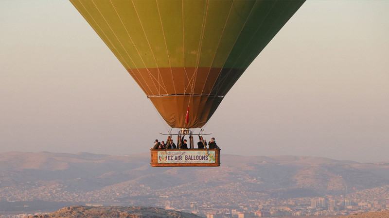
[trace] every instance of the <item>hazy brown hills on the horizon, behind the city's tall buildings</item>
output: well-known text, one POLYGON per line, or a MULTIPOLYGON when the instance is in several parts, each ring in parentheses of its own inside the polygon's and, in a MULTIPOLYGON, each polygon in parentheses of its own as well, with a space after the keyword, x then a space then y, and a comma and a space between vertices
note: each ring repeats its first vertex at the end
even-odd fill
POLYGON ((0 201, 163 205, 160 196, 174 197, 176 202, 186 195, 193 201, 207 195, 210 201, 213 195, 244 201, 261 196, 315 197, 389 185, 389 163, 222 155, 221 167, 152 168, 149 161, 148 153, 0 153, 0 201))

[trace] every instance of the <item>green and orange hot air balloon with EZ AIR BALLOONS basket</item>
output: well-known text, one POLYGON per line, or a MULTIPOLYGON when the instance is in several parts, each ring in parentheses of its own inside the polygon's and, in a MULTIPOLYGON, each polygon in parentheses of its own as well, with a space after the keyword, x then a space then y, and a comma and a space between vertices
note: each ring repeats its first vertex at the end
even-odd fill
MULTIPOLYGON (((209 121, 249 64, 305 0, 70 1, 166 123, 181 129, 178 138, 190 135, 193 149, 190 129, 209 121)), ((191 162, 169 162, 170 158, 154 156, 156 166, 191 162)))

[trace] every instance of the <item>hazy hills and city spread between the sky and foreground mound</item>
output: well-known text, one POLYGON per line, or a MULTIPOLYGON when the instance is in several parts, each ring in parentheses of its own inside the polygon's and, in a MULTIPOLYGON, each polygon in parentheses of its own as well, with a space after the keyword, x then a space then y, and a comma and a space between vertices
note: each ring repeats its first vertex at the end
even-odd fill
POLYGON ((150 166, 148 153, 0 154, 2 214, 153 206, 207 214, 347 215, 389 207, 389 163, 222 155, 220 167, 150 166), (278 214, 277 214, 278 213, 278 214))

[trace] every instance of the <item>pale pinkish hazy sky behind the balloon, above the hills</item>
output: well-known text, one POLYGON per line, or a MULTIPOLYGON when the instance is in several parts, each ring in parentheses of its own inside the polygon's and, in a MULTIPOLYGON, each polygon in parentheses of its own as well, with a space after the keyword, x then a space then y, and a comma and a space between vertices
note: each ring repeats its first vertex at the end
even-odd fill
MULTIPOLYGON (((224 154, 389 161, 388 12, 389 0, 307 0, 205 132, 224 154)), ((143 153, 159 132, 69 1, 0 0, 0 152, 143 153)))

